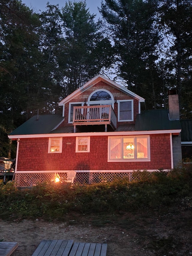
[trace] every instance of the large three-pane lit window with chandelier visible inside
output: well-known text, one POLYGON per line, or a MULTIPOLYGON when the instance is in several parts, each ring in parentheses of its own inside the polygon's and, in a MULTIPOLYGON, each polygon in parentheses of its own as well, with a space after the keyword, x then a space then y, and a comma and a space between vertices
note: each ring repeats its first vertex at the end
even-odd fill
POLYGON ((122 161, 151 161, 149 135, 108 137, 108 162, 122 161))

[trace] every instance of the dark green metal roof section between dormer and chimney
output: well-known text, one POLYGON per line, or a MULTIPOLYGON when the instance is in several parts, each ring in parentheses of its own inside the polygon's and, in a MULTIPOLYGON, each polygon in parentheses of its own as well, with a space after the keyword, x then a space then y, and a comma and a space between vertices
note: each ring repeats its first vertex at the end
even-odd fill
POLYGON ((169 120, 169 110, 145 110, 137 115, 135 131, 179 130, 180 121, 169 120))

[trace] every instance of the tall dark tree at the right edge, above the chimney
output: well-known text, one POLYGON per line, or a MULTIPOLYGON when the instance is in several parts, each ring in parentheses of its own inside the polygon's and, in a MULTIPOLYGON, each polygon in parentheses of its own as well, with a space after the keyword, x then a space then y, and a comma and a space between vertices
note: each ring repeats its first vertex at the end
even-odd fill
POLYGON ((181 114, 191 118, 192 1, 159 1, 159 18, 160 29, 168 43, 166 55, 173 60, 175 68, 181 114))

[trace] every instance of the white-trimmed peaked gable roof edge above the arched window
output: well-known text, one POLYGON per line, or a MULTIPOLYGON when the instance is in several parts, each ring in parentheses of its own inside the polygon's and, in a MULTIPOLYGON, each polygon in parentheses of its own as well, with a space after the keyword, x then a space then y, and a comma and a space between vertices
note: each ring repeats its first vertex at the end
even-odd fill
POLYGON ((85 92, 87 89, 94 86, 96 83, 99 83, 100 81, 103 81, 104 83, 107 83, 108 85, 113 86, 116 89, 119 89, 121 92, 124 92, 124 93, 132 96, 133 98, 138 99, 140 102, 145 102, 144 98, 140 97, 139 95, 135 94, 134 92, 131 92, 128 89, 126 89, 125 87, 123 87, 123 86, 119 85, 118 83, 110 80, 109 78, 104 77, 101 74, 98 74, 97 76, 95 76, 91 80, 89 80, 87 83, 85 83, 83 86, 81 86, 79 89, 72 92, 70 95, 68 95, 62 101, 60 101, 58 105, 63 106, 65 103, 69 102, 70 100, 72 100, 73 98, 75 98, 76 96, 81 94, 82 92, 85 92))

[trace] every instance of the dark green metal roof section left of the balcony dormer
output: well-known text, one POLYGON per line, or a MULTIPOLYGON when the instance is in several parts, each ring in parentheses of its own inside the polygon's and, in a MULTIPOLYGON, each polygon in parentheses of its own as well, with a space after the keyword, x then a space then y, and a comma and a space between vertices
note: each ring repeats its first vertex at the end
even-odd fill
POLYGON ((39 115, 33 116, 28 121, 20 125, 9 135, 24 135, 24 134, 47 134, 52 131, 60 122, 64 120, 64 117, 60 114, 54 115, 39 115))

